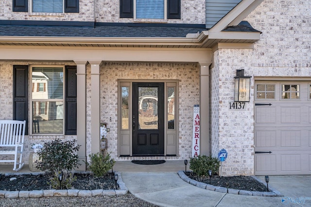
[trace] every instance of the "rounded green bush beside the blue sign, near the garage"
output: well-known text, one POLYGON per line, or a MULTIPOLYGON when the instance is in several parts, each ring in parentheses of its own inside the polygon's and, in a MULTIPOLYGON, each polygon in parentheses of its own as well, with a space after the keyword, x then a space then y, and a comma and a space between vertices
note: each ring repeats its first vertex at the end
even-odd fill
POLYGON ((199 155, 190 159, 190 168, 193 173, 200 177, 208 176, 208 170, 211 170, 213 175, 218 175, 219 165, 220 161, 218 158, 213 158, 211 156, 199 155))

